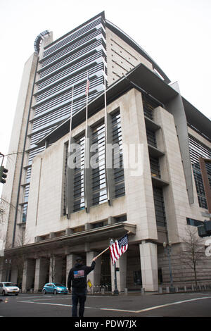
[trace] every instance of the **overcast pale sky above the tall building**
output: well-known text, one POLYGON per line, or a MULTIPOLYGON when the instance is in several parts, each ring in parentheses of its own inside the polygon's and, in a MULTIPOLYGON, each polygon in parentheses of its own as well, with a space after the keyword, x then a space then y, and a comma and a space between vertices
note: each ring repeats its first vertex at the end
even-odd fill
POLYGON ((23 66, 44 30, 53 39, 105 11, 207 117, 210 111, 210 0, 0 0, 0 152, 7 154, 23 66))

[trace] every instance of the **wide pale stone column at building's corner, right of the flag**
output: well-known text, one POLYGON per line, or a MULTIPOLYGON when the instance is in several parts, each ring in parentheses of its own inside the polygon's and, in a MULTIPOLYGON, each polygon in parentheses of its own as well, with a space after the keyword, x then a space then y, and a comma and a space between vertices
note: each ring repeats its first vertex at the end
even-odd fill
POLYGON ((158 291, 157 245, 143 240, 139 244, 142 287, 145 291, 158 291))

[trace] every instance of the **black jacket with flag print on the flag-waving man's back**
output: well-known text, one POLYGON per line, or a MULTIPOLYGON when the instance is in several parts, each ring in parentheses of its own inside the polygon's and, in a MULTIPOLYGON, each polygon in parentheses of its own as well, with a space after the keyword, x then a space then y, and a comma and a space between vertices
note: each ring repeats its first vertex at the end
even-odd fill
POLYGON ((70 269, 68 275, 68 289, 70 289, 71 286, 79 289, 87 288, 87 275, 91 270, 94 270, 95 265, 95 261, 92 261, 91 267, 75 263, 75 266, 70 269))

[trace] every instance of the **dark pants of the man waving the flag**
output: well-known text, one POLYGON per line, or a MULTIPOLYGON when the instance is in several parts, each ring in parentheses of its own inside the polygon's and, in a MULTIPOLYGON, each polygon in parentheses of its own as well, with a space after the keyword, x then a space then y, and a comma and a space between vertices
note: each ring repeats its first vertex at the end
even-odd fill
POLYGON ((77 317, 77 304, 79 302, 79 317, 84 316, 84 305, 87 299, 87 289, 72 288, 72 317, 77 317))

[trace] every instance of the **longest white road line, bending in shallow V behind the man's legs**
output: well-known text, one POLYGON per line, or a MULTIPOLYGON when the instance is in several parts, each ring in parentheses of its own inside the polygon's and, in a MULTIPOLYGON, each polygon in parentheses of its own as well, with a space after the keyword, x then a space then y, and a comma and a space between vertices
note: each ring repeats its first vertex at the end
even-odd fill
MULTIPOLYGON (((126 310, 126 309, 116 309, 116 308, 98 308, 98 307, 85 307, 85 308, 98 309, 98 310, 101 310, 101 311, 120 311, 120 312, 124 312, 124 313, 142 313, 143 311, 152 311, 153 309, 163 308, 163 307, 167 307, 167 306, 173 306, 175 304, 184 304, 185 302, 191 302, 191 301, 197 301, 197 300, 203 300, 203 299, 211 299, 211 296, 203 296, 203 297, 195 298, 195 299, 175 301, 175 302, 172 302, 170 304, 162 304, 160 306, 152 306, 152 307, 148 307, 148 308, 143 308, 139 311, 129 311, 129 310, 126 310)), ((50 305, 50 306, 72 307, 72 305, 70 305, 70 304, 51 304, 49 302, 34 302, 34 301, 18 301, 18 302, 24 302, 24 303, 27 303, 27 304, 45 304, 45 305, 50 305)))

